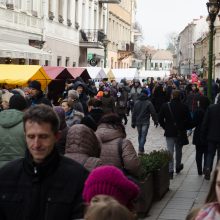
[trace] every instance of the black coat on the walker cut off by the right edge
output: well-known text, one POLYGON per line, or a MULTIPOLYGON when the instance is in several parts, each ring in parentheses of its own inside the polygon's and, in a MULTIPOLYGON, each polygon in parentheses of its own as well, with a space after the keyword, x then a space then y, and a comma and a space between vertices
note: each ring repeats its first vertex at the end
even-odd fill
POLYGON ((202 123, 202 137, 220 143, 220 103, 207 109, 202 123))

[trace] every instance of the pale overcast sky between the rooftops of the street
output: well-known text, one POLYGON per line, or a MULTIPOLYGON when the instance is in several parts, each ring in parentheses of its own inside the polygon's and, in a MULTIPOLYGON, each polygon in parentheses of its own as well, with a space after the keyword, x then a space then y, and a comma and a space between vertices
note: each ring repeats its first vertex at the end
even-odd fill
POLYGON ((200 15, 207 16, 208 0, 137 0, 136 20, 142 26, 144 44, 165 49, 169 33, 180 33, 200 15))

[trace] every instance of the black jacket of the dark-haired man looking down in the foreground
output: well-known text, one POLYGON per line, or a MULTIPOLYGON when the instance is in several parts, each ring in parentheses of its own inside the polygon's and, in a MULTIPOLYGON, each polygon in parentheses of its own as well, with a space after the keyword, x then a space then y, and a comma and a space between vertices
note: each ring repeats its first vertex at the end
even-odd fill
POLYGON ((42 164, 25 158, 0 169, 1 220, 72 220, 82 218, 87 171, 56 150, 42 164))

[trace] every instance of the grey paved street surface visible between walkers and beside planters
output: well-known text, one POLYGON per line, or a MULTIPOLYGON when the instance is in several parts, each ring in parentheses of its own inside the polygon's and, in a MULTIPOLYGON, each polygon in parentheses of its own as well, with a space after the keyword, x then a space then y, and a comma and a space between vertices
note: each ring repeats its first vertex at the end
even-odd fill
MULTIPOLYGON (((126 125, 127 138, 138 150, 137 130, 131 128, 130 118, 126 125)), ((155 128, 153 122, 149 128, 145 151, 166 148, 166 141, 161 127, 155 128)), ((183 147, 183 171, 174 175, 169 191, 158 202, 153 203, 145 220, 184 220, 192 208, 201 207, 210 187, 210 181, 198 176, 195 163, 195 146, 192 143, 183 147)))

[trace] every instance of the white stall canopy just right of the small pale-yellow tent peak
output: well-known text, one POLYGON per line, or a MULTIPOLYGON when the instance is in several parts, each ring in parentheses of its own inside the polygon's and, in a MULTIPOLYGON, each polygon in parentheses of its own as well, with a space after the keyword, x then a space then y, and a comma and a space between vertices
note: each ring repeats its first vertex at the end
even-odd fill
POLYGON ((117 82, 120 82, 123 78, 126 78, 126 80, 133 80, 138 77, 138 70, 136 68, 112 69, 112 72, 117 82))

